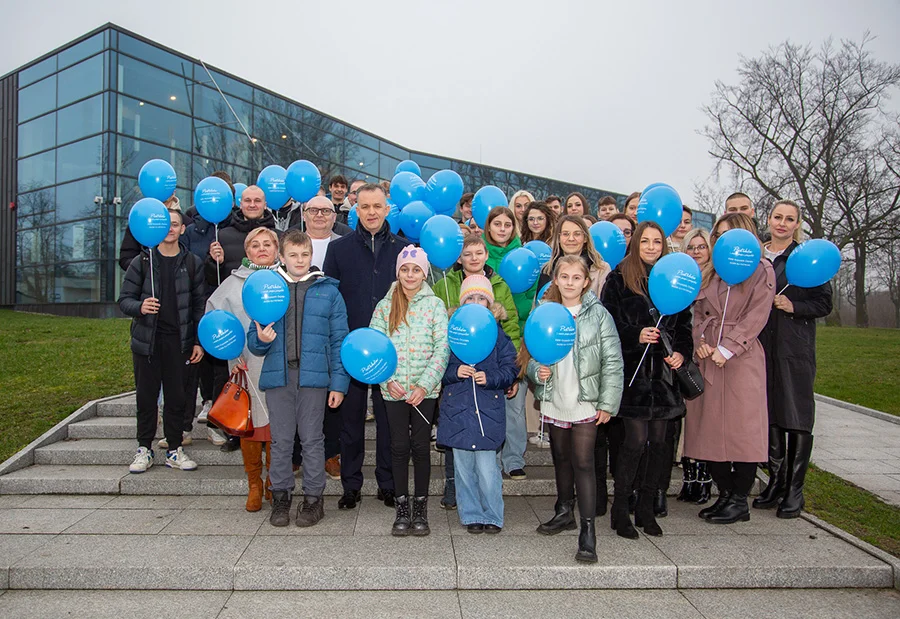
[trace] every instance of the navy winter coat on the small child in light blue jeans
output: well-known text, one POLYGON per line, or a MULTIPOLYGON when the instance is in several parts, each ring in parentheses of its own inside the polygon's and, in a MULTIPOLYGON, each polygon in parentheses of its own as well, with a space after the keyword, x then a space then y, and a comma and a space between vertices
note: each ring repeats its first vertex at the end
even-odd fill
MULTIPOLYGON (((495 304, 496 305, 496 304, 495 304)), ((487 359, 475 364, 484 372, 487 383, 475 385, 471 378, 460 379, 456 372, 466 365, 453 352, 444 372, 444 391, 441 394, 437 442, 447 447, 467 451, 494 451, 506 440, 506 390, 516 380, 516 348, 503 329, 497 328, 497 343, 487 359), (475 393, 481 425, 475 414, 475 393)))

